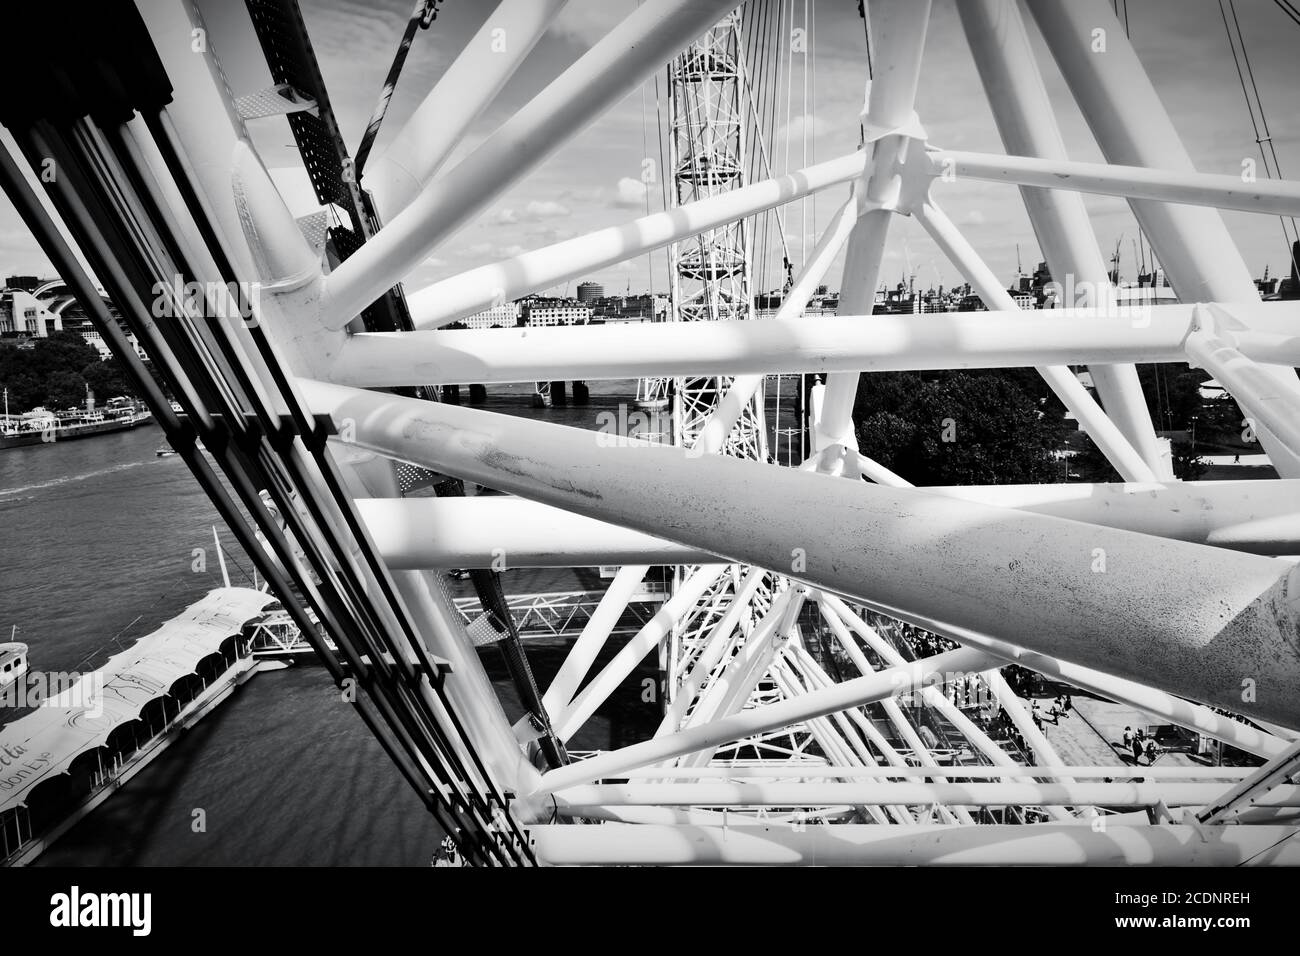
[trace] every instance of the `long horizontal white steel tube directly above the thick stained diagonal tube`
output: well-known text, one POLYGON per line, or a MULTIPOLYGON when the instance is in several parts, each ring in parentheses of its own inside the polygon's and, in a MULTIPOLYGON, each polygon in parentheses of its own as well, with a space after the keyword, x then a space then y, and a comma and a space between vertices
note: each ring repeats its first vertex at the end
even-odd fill
MULTIPOLYGON (((329 377, 341 385, 386 388, 428 381, 493 385, 1186 360, 1183 339, 1192 329, 1192 306, 1106 315, 1022 312, 1009 304, 1008 311, 942 312, 924 321, 887 315, 870 323, 861 316, 806 316, 798 321, 367 332, 342 346, 329 377)), ((1300 339, 1280 333, 1286 323, 1300 317, 1300 304, 1257 302, 1238 312, 1248 324, 1239 341, 1243 354, 1261 362, 1300 360, 1300 339)), ((1083 386, 1075 382, 1075 388, 1082 392, 1083 386)), ((1080 405, 1067 389, 1062 390, 1069 405, 1080 405)), ((1091 405, 1100 415, 1096 403, 1091 405)), ((593 442, 612 438, 593 436, 593 442)))

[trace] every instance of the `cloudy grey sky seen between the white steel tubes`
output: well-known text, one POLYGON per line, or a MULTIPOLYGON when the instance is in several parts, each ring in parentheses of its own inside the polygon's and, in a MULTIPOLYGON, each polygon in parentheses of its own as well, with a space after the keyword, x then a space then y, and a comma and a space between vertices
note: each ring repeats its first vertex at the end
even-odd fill
MULTIPOLYGON (((299 0, 316 56, 325 75, 332 105, 344 139, 355 151, 367 118, 384 83, 398 39, 411 12, 411 0, 299 0)), ((764 0, 775 3, 775 0, 764 0)), ((966 48, 956 4, 935 0, 927 34, 924 68, 916 99, 918 116, 932 144, 956 150, 1002 152, 992 113, 974 61, 966 48)), ((265 66, 248 49, 250 29, 243 4, 207 0, 238 8, 239 16, 213 31, 212 43, 237 92, 269 85, 265 66)), ((569 0, 547 34, 533 49, 489 109, 473 124, 443 170, 471 156, 473 150, 521 108, 547 82, 559 75, 611 26, 638 5, 638 0, 569 0)), ((777 120, 764 130, 764 143, 776 173, 798 169, 853 152, 858 144, 858 114, 867 79, 863 25, 855 0, 785 0, 786 27, 810 38, 809 53, 788 59, 788 87, 779 91, 777 120)), ((1128 0, 1128 27, 1134 46, 1169 111, 1193 164, 1201 172, 1238 176, 1242 161, 1258 159, 1251 117, 1238 82, 1218 0, 1128 0)), ((400 129, 422 96, 437 83, 458 51, 491 16, 486 0, 447 0, 432 29, 416 35, 410 59, 393 98, 376 153, 400 129)), ((1283 173, 1300 177, 1300 111, 1294 105, 1300 90, 1300 26, 1270 0, 1236 0, 1247 51, 1258 85, 1273 142, 1283 173)), ((1100 161, 1100 150, 1074 105, 1050 55, 1030 20, 1058 124, 1070 157, 1100 161)), ((783 68, 784 69, 784 68, 783 68)), ((660 111, 667 111, 664 74, 659 73, 660 111)), ((287 127, 280 120, 257 121, 255 140, 268 166, 292 161, 287 127)), ((656 90, 647 82, 582 130, 556 130, 564 144, 526 177, 504 190, 473 221, 445 241, 408 276, 407 290, 452 276, 486 261, 618 225, 662 208, 662 186, 641 185, 642 163, 658 164, 656 90)), ((1262 166, 1260 170, 1262 178, 1262 166)), ((936 183, 936 198, 1006 281, 1015 274, 1017 259, 1032 271, 1040 254, 1013 187, 958 179, 936 183)), ((815 200, 786 207, 784 226, 796 271, 803 250, 811 252, 831 213, 848 196, 848 186, 823 191, 815 200)), ((1086 198, 1098 242, 1109 259, 1119 245, 1121 269, 1132 278, 1136 222, 1122 200, 1086 198)), ((1223 213, 1232 238, 1254 274, 1265 265, 1273 274, 1288 268, 1282 226, 1275 217, 1223 213)), ((781 277, 771 256, 755 263, 755 291, 777 287, 781 277)), ((0 272, 51 272, 48 263, 0 196, 0 272)), ((842 263, 828 273, 838 287, 842 263)), ((911 272, 922 286, 952 286, 957 271, 910 217, 897 217, 890 230, 881 280, 890 285, 911 272)), ((651 287, 666 291, 663 254, 595 271, 590 278, 608 293, 651 287)), ((573 293, 580 280, 551 290, 573 293)))

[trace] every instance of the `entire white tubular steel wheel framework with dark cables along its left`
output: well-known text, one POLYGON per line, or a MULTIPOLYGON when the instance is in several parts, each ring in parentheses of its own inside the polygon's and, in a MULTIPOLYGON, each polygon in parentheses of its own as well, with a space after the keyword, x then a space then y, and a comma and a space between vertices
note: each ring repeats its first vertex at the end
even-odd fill
MULTIPOLYGON (((930 4, 870 0, 870 96, 861 117, 835 117, 861 124, 857 151, 745 183, 725 172, 734 140, 722 122, 701 140, 716 147, 716 165, 676 150, 675 168, 692 178, 675 208, 403 299, 400 284, 430 252, 556 148, 555 130, 584 127, 666 64, 682 64, 676 96, 705 82, 686 75, 693 64, 712 90, 699 101, 714 112, 684 103, 680 121, 734 107, 731 92, 720 95, 737 79, 727 65, 734 21, 718 26, 733 0, 646 0, 448 165, 563 5, 500 3, 368 163, 360 189, 382 228, 364 224, 355 248, 332 260, 296 222, 317 211, 287 208, 235 108, 237 96, 256 91, 233 88, 239 77, 222 65, 259 48, 247 29, 243 49, 198 49, 194 38, 207 31, 190 3, 105 3, 43 66, 49 75, 6 78, 3 88, 31 96, 0 101, 20 147, 0 152, 5 191, 286 613, 334 679, 360 687, 359 714, 465 858, 1300 861, 1300 571, 1284 557, 1300 553, 1300 308, 1260 302, 1217 212, 1294 216, 1300 183, 1243 187, 1235 176, 1197 173, 1101 0, 959 4, 1006 155, 942 150, 914 105, 930 4), (1067 157, 1026 9, 1105 163, 1067 157), (491 36, 503 23, 504 49, 491 36), (58 177, 23 174, 47 159, 58 177), (1053 274, 1088 282, 1092 295, 1057 313, 1019 311, 936 198, 966 181, 1019 187, 1053 274), (838 191, 842 206, 777 315, 749 320, 745 224, 823 190, 838 191), (1117 302, 1082 193, 1128 200, 1176 304, 1134 311, 1117 302), (900 216, 927 230, 989 311, 872 315, 900 216), (679 321, 439 328, 673 243, 679 281, 702 290, 679 290, 679 321), (841 251, 838 316, 803 316, 841 251), (82 258, 183 415, 107 313, 82 258), (176 278, 208 294, 162 293, 159 319, 156 289, 176 278), (248 287, 259 294, 233 293, 248 287), (356 320, 385 298, 404 300, 411 326, 403 319, 360 330, 376 328, 356 320), (697 321, 705 317, 715 321, 697 321), (1134 372, 1148 362, 1191 362, 1213 375, 1282 477, 1173 480, 1134 372), (1089 367, 1100 403, 1070 365, 1089 367), (859 375, 965 367, 1036 368, 1123 481, 916 489, 858 446, 859 375), (745 416, 763 376, 812 372, 827 381, 811 394, 806 462, 720 454, 750 441, 746 421, 762 423, 745 416), (386 390, 595 378, 714 385, 682 415, 679 446, 594 441, 588 431, 386 390), (403 498, 398 462, 508 496, 403 498), (515 726, 434 574, 491 568, 499 555, 514 568, 620 567, 530 721, 515 726), (593 674, 651 566, 694 570, 593 674), (618 749, 566 753, 673 635, 672 693, 656 731, 618 749), (1009 685, 1013 662, 1193 728, 1258 766, 1067 762, 1009 685), (984 708, 1019 743, 996 739, 984 708)), ((309 66, 296 5, 257 8, 287 31, 263 52, 309 66)), ((328 112, 325 98, 312 99, 328 112)), ((313 120, 296 111, 289 121, 313 120)), ((343 159, 330 168, 337 160, 347 169, 343 159)), ((341 195, 360 207, 354 190, 341 195)))

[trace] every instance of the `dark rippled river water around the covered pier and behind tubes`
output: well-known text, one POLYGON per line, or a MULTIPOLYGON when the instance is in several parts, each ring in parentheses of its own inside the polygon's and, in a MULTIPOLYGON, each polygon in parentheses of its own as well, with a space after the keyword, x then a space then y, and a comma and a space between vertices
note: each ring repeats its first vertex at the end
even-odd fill
MULTIPOLYGON (((530 392, 494 386, 484 407, 594 429, 629 418, 634 382, 593 382, 589 405, 545 410, 532 408, 530 392)), ((780 405, 784 427, 789 385, 780 405)), ((156 457, 161 444, 150 425, 0 453, 0 641, 17 626, 32 670, 95 667, 220 587, 213 525, 231 581, 250 583, 247 555, 185 463, 156 457)), ((597 580, 580 572, 559 587, 597 580)), ((515 571, 504 580, 508 593, 556 585, 554 572, 515 571)), ((543 688, 563 650, 529 645, 543 688)), ((656 711, 638 693, 653 661, 572 747, 619 745, 654 726, 656 711)), ((517 708, 497 652, 485 652, 484 662, 507 709, 517 708)), ((39 862, 428 865, 439 836, 324 669, 306 663, 256 675, 39 862), (195 826, 199 817, 204 827, 195 826)))

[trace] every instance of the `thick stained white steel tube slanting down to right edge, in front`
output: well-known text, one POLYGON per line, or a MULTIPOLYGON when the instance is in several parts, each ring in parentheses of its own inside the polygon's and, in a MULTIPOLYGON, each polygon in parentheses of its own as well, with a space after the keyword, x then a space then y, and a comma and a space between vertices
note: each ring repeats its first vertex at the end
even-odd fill
POLYGON ((578 429, 402 395, 300 388, 315 412, 355 423, 369 450, 732 561, 789 567, 802 548, 801 579, 863 604, 924 607, 974 633, 1300 723, 1290 597, 1300 568, 1286 562, 650 442, 595 447, 578 429), (1095 570, 1097 549, 1106 572, 1095 570), (1240 700, 1244 676, 1257 682, 1254 701, 1240 700))

